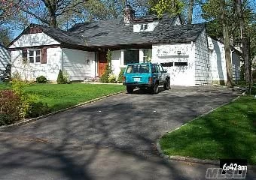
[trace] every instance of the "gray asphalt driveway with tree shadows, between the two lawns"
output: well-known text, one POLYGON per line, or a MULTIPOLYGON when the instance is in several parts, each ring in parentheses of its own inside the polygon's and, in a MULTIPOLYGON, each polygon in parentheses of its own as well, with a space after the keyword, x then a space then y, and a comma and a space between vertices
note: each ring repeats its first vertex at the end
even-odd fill
POLYGON ((236 96, 223 87, 120 94, 5 130, 0 179, 204 179, 209 166, 166 162, 155 143, 236 96))

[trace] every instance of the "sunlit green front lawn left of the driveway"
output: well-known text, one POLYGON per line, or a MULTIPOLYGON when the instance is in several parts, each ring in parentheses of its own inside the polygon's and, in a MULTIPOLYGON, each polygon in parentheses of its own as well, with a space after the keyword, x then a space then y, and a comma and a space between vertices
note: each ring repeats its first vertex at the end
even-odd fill
MULTIPOLYGON (((0 84, 1 89, 11 89, 9 84, 0 84)), ((125 88, 119 85, 108 84, 33 84, 25 88, 29 94, 34 94, 39 101, 47 103, 51 112, 72 107, 94 98, 99 98, 115 92, 121 92, 125 88)))

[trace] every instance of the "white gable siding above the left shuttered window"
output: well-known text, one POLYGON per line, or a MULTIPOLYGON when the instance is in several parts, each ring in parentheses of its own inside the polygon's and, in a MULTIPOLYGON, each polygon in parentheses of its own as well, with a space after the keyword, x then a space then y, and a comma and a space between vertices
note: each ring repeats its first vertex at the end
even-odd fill
POLYGON ((57 45, 58 41, 49 37, 44 32, 36 34, 23 34, 19 39, 17 39, 10 48, 15 47, 25 47, 25 46, 44 46, 44 45, 57 45))

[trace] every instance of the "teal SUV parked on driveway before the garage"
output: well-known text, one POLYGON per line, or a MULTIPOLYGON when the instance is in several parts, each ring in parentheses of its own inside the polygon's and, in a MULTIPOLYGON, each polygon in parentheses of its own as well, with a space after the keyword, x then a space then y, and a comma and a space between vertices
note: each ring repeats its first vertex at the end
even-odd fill
POLYGON ((152 93, 158 93, 158 86, 170 89, 170 77, 162 65, 154 63, 128 64, 123 74, 123 86, 127 93, 133 93, 133 89, 149 89, 152 93))

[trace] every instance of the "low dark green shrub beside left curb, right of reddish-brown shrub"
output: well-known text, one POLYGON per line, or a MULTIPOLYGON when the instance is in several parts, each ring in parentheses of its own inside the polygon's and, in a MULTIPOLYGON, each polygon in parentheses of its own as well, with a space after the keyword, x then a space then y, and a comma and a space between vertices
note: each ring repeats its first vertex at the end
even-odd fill
POLYGON ((26 113, 26 118, 35 118, 41 115, 50 113, 50 108, 47 104, 40 102, 30 102, 29 110, 26 113))

